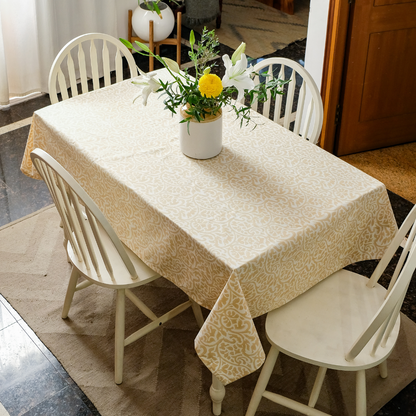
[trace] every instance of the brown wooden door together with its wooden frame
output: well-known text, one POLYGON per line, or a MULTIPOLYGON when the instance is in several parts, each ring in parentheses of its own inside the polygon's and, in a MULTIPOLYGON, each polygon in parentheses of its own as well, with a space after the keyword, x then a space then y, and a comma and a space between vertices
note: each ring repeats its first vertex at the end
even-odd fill
POLYGON ((322 147, 340 156, 415 141, 416 1, 333 0, 329 16, 322 147))

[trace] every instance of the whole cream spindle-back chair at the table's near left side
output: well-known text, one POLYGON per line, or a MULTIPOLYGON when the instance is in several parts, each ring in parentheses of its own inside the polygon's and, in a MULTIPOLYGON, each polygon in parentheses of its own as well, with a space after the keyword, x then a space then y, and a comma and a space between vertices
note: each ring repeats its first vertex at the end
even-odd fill
POLYGON ((131 288, 144 285, 161 277, 144 264, 117 237, 103 213, 75 179, 48 153, 35 149, 33 164, 47 184, 61 216, 68 257, 73 265, 62 309, 62 318, 68 317, 74 293, 92 284, 117 291, 115 318, 115 382, 123 381, 124 347, 172 319, 190 306, 201 327, 200 306, 192 299, 157 317, 131 288), (81 203, 80 203, 81 202, 81 203), (79 277, 84 277, 78 283, 79 277), (151 323, 125 338, 125 298, 130 299, 151 323))

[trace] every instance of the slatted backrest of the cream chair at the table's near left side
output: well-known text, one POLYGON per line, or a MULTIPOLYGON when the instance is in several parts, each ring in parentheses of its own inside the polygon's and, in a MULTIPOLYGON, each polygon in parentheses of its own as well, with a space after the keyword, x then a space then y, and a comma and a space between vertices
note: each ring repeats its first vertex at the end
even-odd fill
POLYGON ((52 199, 62 219, 65 237, 80 263, 87 270, 95 269, 101 276, 99 264, 104 263, 108 274, 114 278, 113 267, 102 240, 104 230, 124 262, 132 279, 137 272, 123 244, 95 202, 76 180, 52 156, 35 149, 30 157, 42 179, 48 186, 52 199), (98 261, 100 258, 100 261, 98 261))

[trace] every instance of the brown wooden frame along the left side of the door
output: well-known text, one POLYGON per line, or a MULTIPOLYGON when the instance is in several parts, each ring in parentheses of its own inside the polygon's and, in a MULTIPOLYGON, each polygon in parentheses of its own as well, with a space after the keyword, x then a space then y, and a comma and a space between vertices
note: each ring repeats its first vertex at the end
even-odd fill
POLYGON ((352 14, 351 3, 349 1, 330 0, 328 9, 321 83, 324 120, 320 146, 330 153, 335 153, 336 150, 337 117, 341 102, 349 20, 350 14, 352 14))

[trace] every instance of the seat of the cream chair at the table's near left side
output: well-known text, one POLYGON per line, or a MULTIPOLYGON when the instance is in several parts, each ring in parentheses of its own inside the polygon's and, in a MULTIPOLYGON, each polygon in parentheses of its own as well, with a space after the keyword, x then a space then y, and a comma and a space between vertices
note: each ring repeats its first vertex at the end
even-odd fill
MULTIPOLYGON (((88 219, 85 219, 85 224, 89 227, 88 219)), ((71 244, 68 242, 68 256, 70 257, 72 264, 85 278, 100 286, 110 287, 112 289, 117 289, 119 287, 128 289, 131 287, 139 286, 141 284, 149 283, 152 280, 158 279, 160 277, 160 274, 148 267, 139 257, 136 256, 136 254, 134 254, 125 244, 123 244, 123 247, 126 250, 127 255, 130 257, 130 260, 137 271, 138 278, 132 279, 129 271, 127 270, 122 258, 120 257, 110 237, 99 223, 97 225, 101 234, 103 245, 105 247, 105 250, 107 251, 108 257, 113 267, 114 277, 111 277, 111 275, 108 273, 101 256, 98 256, 97 259, 101 276, 97 275, 94 267, 92 266, 90 267, 90 270, 88 270, 85 265, 85 262, 79 261, 77 255, 74 253, 72 249, 71 244)), ((97 241, 93 239, 91 241, 91 244, 94 246, 94 250, 98 252, 97 241)))

